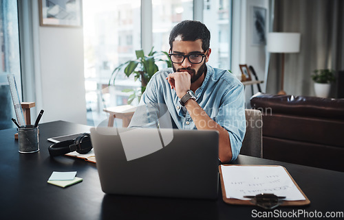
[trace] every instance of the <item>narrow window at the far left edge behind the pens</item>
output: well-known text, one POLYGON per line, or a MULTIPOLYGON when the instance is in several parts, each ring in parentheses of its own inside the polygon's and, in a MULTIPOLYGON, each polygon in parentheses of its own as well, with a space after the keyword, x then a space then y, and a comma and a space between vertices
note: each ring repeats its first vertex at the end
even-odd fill
POLYGON ((7 74, 15 75, 22 94, 17 1, 0 0, 0 11, 0 129, 6 129, 14 127, 15 118, 7 74))

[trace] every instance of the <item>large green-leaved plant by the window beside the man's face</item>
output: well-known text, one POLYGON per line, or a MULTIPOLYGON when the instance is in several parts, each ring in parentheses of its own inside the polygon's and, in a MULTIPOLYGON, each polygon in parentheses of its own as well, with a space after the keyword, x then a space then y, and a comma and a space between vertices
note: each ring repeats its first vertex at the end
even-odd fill
POLYGON ((122 90, 123 92, 132 94, 129 96, 128 104, 130 104, 136 97, 138 97, 138 101, 140 101, 144 90, 146 90, 146 86, 151 80, 151 77, 159 71, 158 65, 156 62, 166 62, 167 67, 172 66, 172 62, 169 59, 168 53, 165 51, 153 51, 153 47, 147 56, 144 55, 143 49, 136 50, 136 59, 135 60, 128 60, 125 63, 120 64, 119 66, 114 69, 111 73, 111 77, 109 79, 109 86, 115 84, 116 76, 118 73, 124 69, 125 75, 130 77, 130 75, 134 75, 134 80, 140 80, 141 82, 141 89, 133 90, 133 89, 125 89, 122 90), (166 56, 166 58, 164 58, 166 56))

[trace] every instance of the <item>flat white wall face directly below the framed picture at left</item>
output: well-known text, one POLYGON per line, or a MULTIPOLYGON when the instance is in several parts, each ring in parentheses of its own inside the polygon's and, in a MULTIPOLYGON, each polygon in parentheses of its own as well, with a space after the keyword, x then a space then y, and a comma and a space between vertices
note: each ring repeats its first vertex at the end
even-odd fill
POLYGON ((39 27, 45 121, 86 124, 83 29, 39 27))

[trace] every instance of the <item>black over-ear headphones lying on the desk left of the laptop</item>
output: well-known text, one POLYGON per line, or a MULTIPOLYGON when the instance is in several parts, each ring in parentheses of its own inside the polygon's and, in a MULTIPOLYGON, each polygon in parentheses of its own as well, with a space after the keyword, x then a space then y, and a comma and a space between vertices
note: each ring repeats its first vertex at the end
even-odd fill
POLYGON ((91 136, 87 133, 78 136, 75 140, 64 140, 48 148, 50 156, 60 156, 73 151, 79 154, 87 154, 91 149, 91 136))

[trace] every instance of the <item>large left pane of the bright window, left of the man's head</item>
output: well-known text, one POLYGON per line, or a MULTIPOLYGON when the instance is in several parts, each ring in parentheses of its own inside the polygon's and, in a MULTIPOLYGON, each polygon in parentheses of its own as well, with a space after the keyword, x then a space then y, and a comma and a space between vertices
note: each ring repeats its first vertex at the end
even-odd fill
POLYGON ((140 86, 122 73, 116 77, 115 88, 107 88, 116 66, 135 58, 135 50, 141 48, 140 6, 140 0, 83 1, 85 89, 89 125, 105 119, 105 106, 127 103, 130 93, 122 92, 124 88, 140 86))

